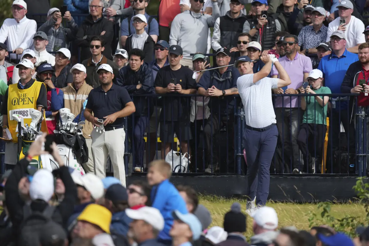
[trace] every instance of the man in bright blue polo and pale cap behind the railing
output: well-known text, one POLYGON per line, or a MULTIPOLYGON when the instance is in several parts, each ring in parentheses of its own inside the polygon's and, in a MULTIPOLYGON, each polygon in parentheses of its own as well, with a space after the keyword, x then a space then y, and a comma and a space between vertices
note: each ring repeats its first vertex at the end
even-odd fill
MULTIPOLYGON (((324 56, 319 63, 318 69, 323 72, 324 86, 331 89, 332 94, 341 93, 341 84, 345 77, 346 70, 351 65, 358 61, 358 55, 346 50, 346 39, 344 32, 337 30, 331 35, 331 55, 324 56)), ((328 153, 327 157, 331 157, 330 146, 333 151, 339 147, 339 134, 341 130, 341 122, 345 128, 345 133, 348 134, 349 146, 348 152, 355 153, 355 125, 352 121, 350 123, 350 116, 348 112, 348 97, 332 96, 331 103, 328 104, 328 112, 330 117, 329 138, 328 138, 328 153)), ((333 156, 333 154, 332 154, 333 156)), ((332 160, 331 160, 332 161, 332 160)), ((327 161, 327 163, 329 163, 327 161)), ((327 168, 331 165, 328 164, 327 168)))

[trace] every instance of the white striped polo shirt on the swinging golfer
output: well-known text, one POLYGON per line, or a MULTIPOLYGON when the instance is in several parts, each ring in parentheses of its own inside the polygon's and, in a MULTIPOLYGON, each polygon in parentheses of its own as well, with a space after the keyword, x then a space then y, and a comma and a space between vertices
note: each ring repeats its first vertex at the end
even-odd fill
POLYGON ((237 89, 245 108, 245 121, 249 127, 263 128, 275 124, 276 115, 272 103, 272 89, 278 79, 265 77, 253 83, 254 74, 237 79, 237 89))

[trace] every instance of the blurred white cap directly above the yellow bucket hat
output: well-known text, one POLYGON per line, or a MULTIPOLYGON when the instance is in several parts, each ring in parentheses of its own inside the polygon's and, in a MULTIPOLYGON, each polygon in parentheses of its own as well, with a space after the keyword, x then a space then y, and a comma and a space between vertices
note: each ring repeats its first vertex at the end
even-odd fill
POLYGON ((91 193, 91 197, 96 200, 104 196, 104 185, 101 179, 99 179, 93 173, 86 173, 80 176, 79 173, 72 173, 73 182, 79 186, 85 187, 85 189, 91 193))

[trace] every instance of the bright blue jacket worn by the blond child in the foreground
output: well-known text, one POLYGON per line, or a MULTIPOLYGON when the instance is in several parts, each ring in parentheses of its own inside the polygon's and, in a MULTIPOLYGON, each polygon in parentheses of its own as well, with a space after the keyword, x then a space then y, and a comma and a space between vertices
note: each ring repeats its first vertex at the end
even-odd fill
POLYGON ((182 214, 187 214, 186 203, 176 187, 167 179, 152 187, 151 201, 152 207, 159 209, 164 218, 164 229, 159 233, 158 238, 171 240, 169 230, 173 225, 172 211, 178 210, 182 214))

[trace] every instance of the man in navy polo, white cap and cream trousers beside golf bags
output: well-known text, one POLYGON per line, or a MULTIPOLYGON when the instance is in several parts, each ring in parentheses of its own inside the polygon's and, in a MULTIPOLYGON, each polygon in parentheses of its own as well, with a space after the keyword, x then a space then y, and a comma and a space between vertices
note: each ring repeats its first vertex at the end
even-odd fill
POLYGON ((104 178, 109 155, 114 177, 125 186, 123 118, 134 113, 136 108, 127 90, 113 84, 114 73, 110 65, 101 64, 97 74, 101 85, 90 91, 84 114, 97 129, 91 132, 94 169, 97 177, 104 178))

